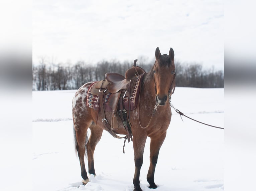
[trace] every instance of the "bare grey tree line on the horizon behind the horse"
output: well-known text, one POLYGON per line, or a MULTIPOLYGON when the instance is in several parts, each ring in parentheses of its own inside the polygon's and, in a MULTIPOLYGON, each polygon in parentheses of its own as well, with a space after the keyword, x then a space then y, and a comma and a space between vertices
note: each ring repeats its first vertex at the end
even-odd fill
MULTIPOLYGON (((32 90, 74 90, 80 88, 86 82, 99 81, 105 78, 107 72, 115 72, 124 75, 125 71, 133 65, 129 62, 101 61, 92 66, 79 61, 72 64, 46 64, 41 59, 39 65, 32 66, 33 83, 32 90)), ((146 72, 152 68, 153 63, 141 62, 138 66, 146 72)), ((203 70, 200 64, 181 64, 175 62, 176 86, 195 88, 223 88, 223 71, 203 70)))

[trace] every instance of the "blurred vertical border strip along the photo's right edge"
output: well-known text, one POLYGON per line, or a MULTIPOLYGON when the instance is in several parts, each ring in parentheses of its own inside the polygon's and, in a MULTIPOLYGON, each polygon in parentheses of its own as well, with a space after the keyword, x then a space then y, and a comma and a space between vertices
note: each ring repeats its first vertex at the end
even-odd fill
POLYGON ((225 190, 254 190, 256 171, 255 3, 224 1, 225 190), (254 189, 253 189, 254 188, 254 189))

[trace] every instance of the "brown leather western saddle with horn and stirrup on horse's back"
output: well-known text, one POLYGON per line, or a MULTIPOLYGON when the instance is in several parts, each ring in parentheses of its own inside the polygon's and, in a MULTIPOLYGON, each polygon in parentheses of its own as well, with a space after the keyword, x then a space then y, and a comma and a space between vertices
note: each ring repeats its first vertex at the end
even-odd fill
POLYGON ((128 139, 128 142, 130 139, 132 140, 131 124, 129 121, 131 107, 129 104, 128 111, 124 109, 123 98, 128 96, 128 103, 130 103, 131 91, 134 88, 136 78, 145 73, 142 68, 136 66, 136 62, 137 60, 134 60, 134 66, 126 71, 125 77, 117 73, 106 73, 106 79, 97 82, 92 89, 93 94, 99 95, 98 107, 100 110, 99 112, 101 113, 100 117, 102 117, 101 121, 105 125, 105 130, 116 138, 128 139), (108 108, 106 108, 107 106, 105 105, 104 96, 108 93, 111 93, 111 96, 108 99, 108 108), (111 124, 109 124, 106 119, 106 110, 111 111, 111 124), (114 130, 118 129, 118 115, 127 131, 128 135, 126 137, 119 137, 114 132, 114 130))

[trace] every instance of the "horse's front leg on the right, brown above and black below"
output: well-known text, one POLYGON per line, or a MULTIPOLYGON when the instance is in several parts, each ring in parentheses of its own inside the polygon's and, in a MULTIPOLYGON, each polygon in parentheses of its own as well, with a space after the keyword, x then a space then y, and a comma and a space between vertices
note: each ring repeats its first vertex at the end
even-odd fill
POLYGON ((157 188, 157 185, 154 181, 154 174, 155 174, 155 166, 158 159, 159 150, 163 144, 163 141, 165 139, 166 132, 157 136, 157 137, 151 137, 150 141, 150 166, 148 169, 147 174, 147 181, 149 183, 149 188, 157 188))

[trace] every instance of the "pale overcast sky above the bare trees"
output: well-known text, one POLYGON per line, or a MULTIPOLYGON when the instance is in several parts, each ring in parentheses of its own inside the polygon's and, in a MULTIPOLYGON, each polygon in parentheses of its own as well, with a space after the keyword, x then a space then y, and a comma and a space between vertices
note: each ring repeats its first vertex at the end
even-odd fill
MULTIPOLYGON (((221 0, 34 0, 33 63, 154 59, 224 68, 221 0)), ((139 65, 139 60, 138 63, 139 65)))

